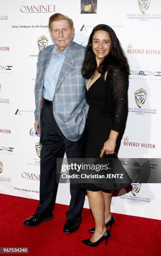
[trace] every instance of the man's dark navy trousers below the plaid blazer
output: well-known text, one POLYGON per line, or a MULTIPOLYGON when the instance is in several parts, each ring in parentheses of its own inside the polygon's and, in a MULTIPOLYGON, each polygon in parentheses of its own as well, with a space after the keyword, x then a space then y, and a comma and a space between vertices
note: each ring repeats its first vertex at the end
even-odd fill
MULTIPOLYGON (((60 131, 53 115, 52 106, 44 102, 41 113, 42 132, 40 141, 40 202, 36 213, 51 212, 57 195, 57 158, 81 158, 84 151, 85 130, 78 141, 69 141, 60 131)), ((62 191, 62 193, 66 193, 62 191)), ((76 219, 82 214, 85 192, 80 184, 70 184, 71 200, 67 219, 76 219)))

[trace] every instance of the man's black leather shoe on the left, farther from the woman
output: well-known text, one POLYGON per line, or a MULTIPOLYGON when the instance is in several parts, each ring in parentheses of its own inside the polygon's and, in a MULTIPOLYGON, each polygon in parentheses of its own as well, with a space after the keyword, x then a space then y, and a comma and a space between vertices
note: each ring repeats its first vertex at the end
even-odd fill
POLYGON ((27 218, 24 221, 23 225, 25 225, 27 227, 35 227, 35 226, 40 225, 40 223, 42 221, 52 220, 53 218, 54 217, 53 217, 52 213, 50 213, 50 214, 37 214, 37 213, 35 213, 31 217, 27 218))

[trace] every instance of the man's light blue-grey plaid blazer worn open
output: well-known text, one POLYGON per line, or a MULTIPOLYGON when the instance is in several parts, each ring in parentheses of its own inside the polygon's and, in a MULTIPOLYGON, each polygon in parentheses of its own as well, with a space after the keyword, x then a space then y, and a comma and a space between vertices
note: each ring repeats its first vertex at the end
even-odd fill
MULTIPOLYGON (((35 120, 40 120, 45 72, 52 57, 54 46, 47 46, 38 54, 35 82, 35 120)), ((86 79, 81 74, 84 52, 84 46, 71 42, 57 80, 53 98, 54 118, 64 136, 70 141, 77 141, 82 136, 88 111, 85 100, 86 79)))

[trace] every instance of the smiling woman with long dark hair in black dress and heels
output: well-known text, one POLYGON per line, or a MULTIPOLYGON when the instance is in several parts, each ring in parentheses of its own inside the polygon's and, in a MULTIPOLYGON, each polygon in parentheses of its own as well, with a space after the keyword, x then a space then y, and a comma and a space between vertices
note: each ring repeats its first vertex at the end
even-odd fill
MULTIPOLYGON (((87 45, 82 75, 87 81, 86 158, 102 157, 118 152, 128 110, 129 65, 119 40, 107 25, 96 26, 87 45)), ((82 242, 97 246, 110 236, 108 225, 114 223, 110 212, 111 190, 102 191, 94 184, 82 184, 87 189, 89 204, 95 220, 91 239, 82 242)))

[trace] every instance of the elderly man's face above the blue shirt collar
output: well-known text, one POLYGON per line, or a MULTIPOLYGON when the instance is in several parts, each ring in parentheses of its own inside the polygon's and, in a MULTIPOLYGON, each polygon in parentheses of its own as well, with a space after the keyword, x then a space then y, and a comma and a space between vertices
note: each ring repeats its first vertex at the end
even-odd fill
POLYGON ((70 28, 67 20, 53 21, 50 34, 58 49, 65 50, 72 41, 74 28, 70 28))

